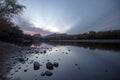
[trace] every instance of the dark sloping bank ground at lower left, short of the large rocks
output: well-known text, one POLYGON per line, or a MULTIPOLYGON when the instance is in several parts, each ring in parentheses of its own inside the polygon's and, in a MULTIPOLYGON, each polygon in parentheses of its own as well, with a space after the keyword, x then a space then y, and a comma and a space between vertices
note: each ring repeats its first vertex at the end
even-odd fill
POLYGON ((6 75, 17 62, 14 60, 25 48, 0 41, 0 80, 7 80, 6 75))

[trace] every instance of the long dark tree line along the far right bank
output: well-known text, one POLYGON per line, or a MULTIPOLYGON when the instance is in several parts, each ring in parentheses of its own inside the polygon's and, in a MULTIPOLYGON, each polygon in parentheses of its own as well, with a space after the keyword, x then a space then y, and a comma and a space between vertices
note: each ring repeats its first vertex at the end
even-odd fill
POLYGON ((120 39, 120 30, 89 31, 88 33, 43 38, 43 40, 101 40, 120 39))

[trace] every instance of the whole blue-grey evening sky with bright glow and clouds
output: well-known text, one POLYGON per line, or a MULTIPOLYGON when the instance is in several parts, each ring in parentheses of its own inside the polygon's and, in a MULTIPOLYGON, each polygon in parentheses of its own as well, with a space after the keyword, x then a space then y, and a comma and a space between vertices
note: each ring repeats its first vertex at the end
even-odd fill
POLYGON ((18 0, 25 5, 14 17, 24 33, 79 34, 120 29, 120 0, 18 0))

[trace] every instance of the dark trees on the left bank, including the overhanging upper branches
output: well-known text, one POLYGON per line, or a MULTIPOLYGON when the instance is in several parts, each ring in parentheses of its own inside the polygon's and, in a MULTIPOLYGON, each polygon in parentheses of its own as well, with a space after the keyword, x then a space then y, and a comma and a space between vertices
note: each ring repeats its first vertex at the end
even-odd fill
POLYGON ((15 44, 32 40, 31 35, 24 34, 19 26, 11 21, 14 15, 20 14, 24 8, 17 0, 0 0, 0 40, 15 44))

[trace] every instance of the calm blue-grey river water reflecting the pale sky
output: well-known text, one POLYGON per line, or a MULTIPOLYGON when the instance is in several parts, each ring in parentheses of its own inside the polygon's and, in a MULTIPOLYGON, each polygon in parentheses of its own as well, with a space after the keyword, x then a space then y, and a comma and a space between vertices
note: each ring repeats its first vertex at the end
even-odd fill
POLYGON ((25 51, 28 60, 17 63, 11 80, 120 80, 120 47, 109 44, 35 43, 25 51), (46 51, 46 52, 44 52, 46 51), (33 63, 40 63, 34 70, 33 63), (53 70, 46 63, 57 62, 53 70), (41 76, 50 71, 50 76, 41 76))

